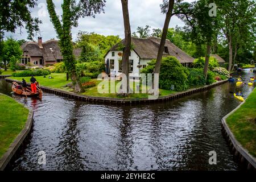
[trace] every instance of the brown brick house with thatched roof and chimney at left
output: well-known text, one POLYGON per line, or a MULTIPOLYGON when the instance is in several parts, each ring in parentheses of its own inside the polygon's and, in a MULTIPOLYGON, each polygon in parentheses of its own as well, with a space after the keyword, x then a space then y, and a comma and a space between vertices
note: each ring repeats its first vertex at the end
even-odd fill
MULTIPOLYGON (((42 38, 38 38, 38 42, 26 42, 21 46, 23 50, 21 63, 31 63, 38 66, 46 64, 55 64, 63 60, 60 52, 59 40, 48 40, 42 42, 42 38)), ((74 55, 78 58, 81 49, 74 49, 74 55)))

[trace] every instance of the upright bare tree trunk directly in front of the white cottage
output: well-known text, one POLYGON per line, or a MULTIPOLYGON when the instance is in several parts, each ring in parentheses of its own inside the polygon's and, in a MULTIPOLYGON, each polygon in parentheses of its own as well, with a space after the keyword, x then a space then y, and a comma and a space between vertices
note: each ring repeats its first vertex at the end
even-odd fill
POLYGON ((123 10, 123 24, 125 26, 125 47, 123 48, 122 56, 122 73, 127 79, 126 88, 122 88, 125 93, 129 93, 129 55, 131 49, 131 27, 128 10, 128 0, 121 0, 123 10), (126 90, 124 90, 126 89, 126 90))

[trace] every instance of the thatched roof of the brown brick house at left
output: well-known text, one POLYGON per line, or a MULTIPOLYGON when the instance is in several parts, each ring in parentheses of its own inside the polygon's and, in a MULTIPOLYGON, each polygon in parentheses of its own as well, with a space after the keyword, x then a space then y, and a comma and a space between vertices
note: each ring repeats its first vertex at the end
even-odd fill
MULTIPOLYGON (((56 61, 57 59, 63 59, 61 55, 59 40, 48 40, 42 43, 43 48, 38 46, 37 42, 26 42, 21 48, 23 51, 28 51, 28 55, 42 56, 44 61, 56 61)), ((73 49, 73 53, 76 57, 81 54, 81 49, 73 49)))

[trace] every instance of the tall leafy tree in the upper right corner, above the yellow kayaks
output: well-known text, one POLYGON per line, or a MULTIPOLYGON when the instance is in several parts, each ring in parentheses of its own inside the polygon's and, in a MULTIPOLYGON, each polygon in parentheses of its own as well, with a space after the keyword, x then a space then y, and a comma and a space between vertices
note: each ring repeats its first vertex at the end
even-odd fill
MULTIPOLYGON (((227 0, 216 1, 221 14, 221 30, 225 35, 229 48, 229 68, 232 70, 232 62, 236 60, 237 50, 242 45, 250 43, 247 41, 255 32, 255 1, 250 0, 227 0), (246 40, 247 39, 247 40, 246 40)), ((255 39, 254 39, 255 40, 255 39)), ((234 64, 234 63, 233 63, 234 64)))

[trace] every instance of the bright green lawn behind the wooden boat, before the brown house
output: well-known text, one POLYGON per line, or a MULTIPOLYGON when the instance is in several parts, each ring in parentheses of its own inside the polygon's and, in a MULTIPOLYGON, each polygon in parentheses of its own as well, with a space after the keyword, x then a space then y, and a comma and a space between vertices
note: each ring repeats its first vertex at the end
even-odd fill
MULTIPOLYGON (((49 86, 52 88, 63 88, 64 85, 71 82, 66 80, 66 73, 51 73, 53 78, 44 78, 43 76, 35 76, 36 80, 39 82, 39 85, 49 86)), ((31 77, 9 77, 14 80, 22 81, 22 78, 26 80, 27 83, 30 83, 31 77)))

